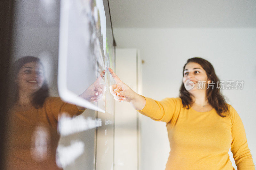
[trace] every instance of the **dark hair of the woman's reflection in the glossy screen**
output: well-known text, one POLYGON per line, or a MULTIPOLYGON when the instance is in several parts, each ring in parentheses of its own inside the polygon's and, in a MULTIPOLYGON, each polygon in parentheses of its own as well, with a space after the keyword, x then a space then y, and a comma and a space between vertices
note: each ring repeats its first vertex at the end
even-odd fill
MULTIPOLYGON (((11 92, 9 92, 9 96, 10 96, 10 105, 14 105, 19 97, 19 87, 17 82, 15 82, 15 79, 17 79, 18 73, 20 71, 20 69, 22 68, 22 66, 26 63, 30 63, 30 62, 37 62, 40 63, 42 66, 43 64, 41 63, 40 59, 34 56, 25 56, 25 57, 21 57, 20 59, 16 60, 12 66, 12 75, 11 75, 11 92)), ((32 94, 32 104, 34 107, 39 108, 39 107, 43 107, 44 104, 44 100, 49 97, 49 88, 46 82, 46 79, 44 79, 44 83, 42 85, 42 87, 34 92, 32 94)))

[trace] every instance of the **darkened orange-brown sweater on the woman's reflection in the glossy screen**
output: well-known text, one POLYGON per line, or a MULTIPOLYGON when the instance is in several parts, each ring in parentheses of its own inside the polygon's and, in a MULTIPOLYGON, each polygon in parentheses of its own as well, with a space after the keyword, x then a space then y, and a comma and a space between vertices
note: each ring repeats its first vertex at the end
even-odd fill
POLYGON ((59 97, 46 98, 43 107, 40 108, 35 108, 31 104, 14 105, 10 109, 5 169, 60 169, 55 162, 60 139, 57 131, 58 116, 63 113, 74 116, 83 112, 84 110, 63 102, 59 97), (43 147, 39 149, 43 150, 33 155, 33 151, 36 151, 33 149, 34 145, 40 141, 43 147), (44 153, 43 157, 38 155, 40 153, 44 153))

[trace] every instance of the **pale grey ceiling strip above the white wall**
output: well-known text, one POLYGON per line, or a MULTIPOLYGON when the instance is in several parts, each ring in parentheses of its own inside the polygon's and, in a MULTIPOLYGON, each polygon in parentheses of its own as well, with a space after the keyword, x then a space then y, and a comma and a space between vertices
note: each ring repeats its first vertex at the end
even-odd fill
POLYGON ((114 28, 256 27, 256 0, 108 0, 114 28))

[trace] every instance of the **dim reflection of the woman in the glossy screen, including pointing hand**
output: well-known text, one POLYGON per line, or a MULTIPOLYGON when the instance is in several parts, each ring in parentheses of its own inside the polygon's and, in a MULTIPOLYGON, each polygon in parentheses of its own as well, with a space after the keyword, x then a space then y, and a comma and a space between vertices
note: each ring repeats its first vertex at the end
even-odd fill
MULTIPOLYGON (((79 115, 85 108, 49 97, 44 67, 36 57, 18 59, 12 72, 7 169, 59 169, 55 161, 60 139, 58 116, 79 115)), ((105 70, 100 78, 104 75, 105 70)), ((100 78, 80 97, 94 102, 101 100, 105 88, 100 88, 100 78)))

